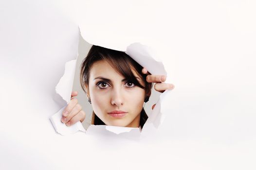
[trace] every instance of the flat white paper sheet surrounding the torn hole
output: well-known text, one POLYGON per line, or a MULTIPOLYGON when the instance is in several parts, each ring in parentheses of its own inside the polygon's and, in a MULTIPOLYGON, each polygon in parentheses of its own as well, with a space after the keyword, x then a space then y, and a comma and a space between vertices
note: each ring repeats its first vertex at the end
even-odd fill
MULTIPOLYGON (((245 169, 256 153, 256 2, 0 1, 0 169, 245 169), (77 8, 77 5, 78 7, 77 8), (154 47, 175 85, 151 134, 60 136, 55 85, 92 44, 154 47)), ((58 102, 60 101, 60 102, 58 102)))

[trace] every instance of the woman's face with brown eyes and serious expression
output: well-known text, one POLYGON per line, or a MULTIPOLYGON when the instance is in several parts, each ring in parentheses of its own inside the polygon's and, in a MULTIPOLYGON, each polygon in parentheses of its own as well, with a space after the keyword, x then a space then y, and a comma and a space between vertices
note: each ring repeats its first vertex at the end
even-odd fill
MULTIPOLYGON (((145 86, 139 75, 136 77, 145 86)), ((145 90, 126 80, 108 62, 92 65, 87 92, 94 113, 106 125, 139 127, 145 90)))

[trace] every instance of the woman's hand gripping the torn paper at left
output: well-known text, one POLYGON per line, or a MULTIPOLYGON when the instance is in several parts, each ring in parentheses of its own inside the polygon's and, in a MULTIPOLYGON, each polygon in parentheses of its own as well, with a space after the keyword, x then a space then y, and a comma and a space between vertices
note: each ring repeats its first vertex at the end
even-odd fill
POLYGON ((67 126, 71 126, 78 121, 84 121, 85 112, 82 110, 82 106, 78 104, 78 100, 74 98, 78 95, 77 91, 73 91, 71 94, 71 101, 62 112, 61 121, 66 123, 67 126))

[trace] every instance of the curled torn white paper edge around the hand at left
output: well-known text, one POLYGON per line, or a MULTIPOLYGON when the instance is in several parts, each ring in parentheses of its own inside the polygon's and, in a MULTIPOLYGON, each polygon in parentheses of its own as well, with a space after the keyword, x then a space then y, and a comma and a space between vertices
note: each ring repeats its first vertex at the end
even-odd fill
MULTIPOLYGON (((72 60, 66 63, 64 75, 60 78, 59 83, 55 87, 56 93, 59 94, 62 99, 67 102, 67 104, 70 102, 70 97, 72 93, 75 66, 76 60, 72 60)), ((63 136, 74 134, 78 131, 85 132, 85 129, 80 121, 76 122, 72 126, 66 126, 65 123, 61 122, 62 112, 65 107, 60 109, 50 118, 55 128, 55 131, 63 136)))

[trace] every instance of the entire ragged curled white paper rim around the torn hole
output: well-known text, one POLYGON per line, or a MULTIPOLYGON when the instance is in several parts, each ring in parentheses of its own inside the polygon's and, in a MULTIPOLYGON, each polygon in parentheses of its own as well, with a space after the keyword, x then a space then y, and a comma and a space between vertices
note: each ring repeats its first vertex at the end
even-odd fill
MULTIPOLYGON (((146 68, 150 73, 155 75, 166 75, 166 71, 163 63, 156 57, 156 55, 152 52, 152 50, 140 43, 133 43, 127 47, 126 53, 133 58, 136 62, 138 62, 141 66, 146 68)), ((66 63, 65 73, 63 77, 60 79, 59 84, 56 86, 56 92, 68 103, 70 101, 74 70, 75 70, 76 60, 70 61, 66 63)), ((165 95, 162 94, 161 96, 165 95)), ((155 108, 152 110, 152 113, 147 113, 149 118, 146 121, 146 124, 153 124, 155 128, 157 128, 164 119, 164 115, 161 114, 161 101, 162 98, 156 103, 155 108)), ((84 101, 85 102, 85 101, 84 101)), ((65 106, 66 107, 66 106, 65 106)), ((60 121, 62 117, 62 111, 65 108, 63 107, 58 113, 51 117, 55 130, 61 135, 73 134, 77 131, 85 132, 82 124, 77 122, 73 126, 66 126, 64 123, 60 121)), ((135 134, 140 134, 140 128, 128 128, 128 127, 118 127, 118 126, 107 126, 107 125, 93 125, 89 126, 87 129, 87 133, 98 132, 99 129, 104 129, 106 132, 111 132, 114 134, 122 134, 122 133, 130 133, 131 131, 135 134)), ((146 131, 146 126, 143 128, 143 131, 146 131)))

